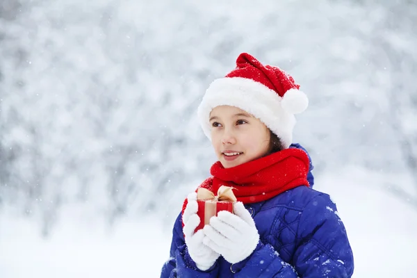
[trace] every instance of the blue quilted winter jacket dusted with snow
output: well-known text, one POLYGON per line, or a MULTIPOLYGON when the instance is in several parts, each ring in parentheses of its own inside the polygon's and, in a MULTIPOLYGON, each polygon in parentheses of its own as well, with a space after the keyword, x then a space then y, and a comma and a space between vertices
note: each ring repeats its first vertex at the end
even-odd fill
POLYGON ((352 249, 336 205, 329 195, 311 188, 311 172, 308 179, 310 187, 299 186, 245 205, 260 240, 252 255, 233 265, 220 256, 210 269, 198 270, 184 242, 180 213, 174 223, 170 260, 163 265, 161 278, 351 277, 352 249))

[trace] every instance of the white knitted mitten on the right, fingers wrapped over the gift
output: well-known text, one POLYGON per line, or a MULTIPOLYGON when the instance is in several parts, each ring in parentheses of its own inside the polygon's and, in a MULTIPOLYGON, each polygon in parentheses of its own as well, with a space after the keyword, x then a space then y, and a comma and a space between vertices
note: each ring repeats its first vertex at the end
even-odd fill
POLYGON ((204 244, 220 253, 229 263, 243 261, 254 252, 259 233, 242 202, 234 204, 234 213, 219 211, 204 227, 204 244))

